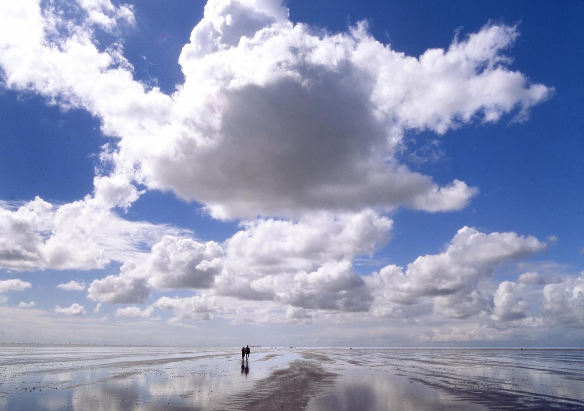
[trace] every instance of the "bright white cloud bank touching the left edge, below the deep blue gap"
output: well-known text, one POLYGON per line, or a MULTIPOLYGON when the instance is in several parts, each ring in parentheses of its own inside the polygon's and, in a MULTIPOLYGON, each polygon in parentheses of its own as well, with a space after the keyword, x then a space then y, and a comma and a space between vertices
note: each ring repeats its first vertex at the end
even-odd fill
POLYGON ((99 195, 55 207, 36 197, 17 210, 0 208, 0 267, 100 269, 110 261, 140 259, 144 245, 178 229, 127 221, 99 195))

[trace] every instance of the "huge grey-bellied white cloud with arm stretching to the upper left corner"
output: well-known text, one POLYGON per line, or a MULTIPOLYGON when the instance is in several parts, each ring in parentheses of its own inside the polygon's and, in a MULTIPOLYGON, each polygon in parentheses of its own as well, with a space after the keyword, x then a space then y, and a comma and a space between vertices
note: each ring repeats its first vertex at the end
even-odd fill
MULTIPOLYGON (((106 28, 106 12, 124 9, 81 4, 106 28)), ((293 25, 280 2, 211 1, 180 55, 185 83, 168 96, 133 80, 119 46, 99 51, 91 29, 54 33, 61 17, 43 18, 32 2, 3 8, 6 85, 84 107, 120 138, 110 153, 115 171, 96 190, 108 187, 113 197, 103 199, 121 207, 137 194, 116 181, 135 179, 199 201, 217 218, 459 210, 477 190, 459 180, 440 187, 399 164, 404 131, 442 134, 514 110, 523 118, 552 91, 507 68, 516 27, 488 25, 418 59, 379 43, 362 23, 330 34, 293 25), (35 29, 23 32, 30 22, 35 29)))

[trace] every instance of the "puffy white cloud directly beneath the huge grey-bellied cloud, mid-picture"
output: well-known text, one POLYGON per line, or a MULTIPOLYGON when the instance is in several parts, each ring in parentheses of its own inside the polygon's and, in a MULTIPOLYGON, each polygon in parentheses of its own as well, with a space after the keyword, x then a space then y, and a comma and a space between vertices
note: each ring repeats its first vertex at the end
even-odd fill
POLYGON ((390 219, 371 210, 246 222, 225 242, 216 290, 298 308, 366 311, 372 298, 352 259, 383 246, 391 227, 390 219))

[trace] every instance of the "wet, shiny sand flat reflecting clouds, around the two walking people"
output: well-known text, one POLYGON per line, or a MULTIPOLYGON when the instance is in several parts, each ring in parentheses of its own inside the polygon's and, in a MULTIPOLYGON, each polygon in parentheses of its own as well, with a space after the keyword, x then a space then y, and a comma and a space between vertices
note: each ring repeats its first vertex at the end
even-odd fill
POLYGON ((584 410, 584 350, 0 344, 0 410, 584 410))

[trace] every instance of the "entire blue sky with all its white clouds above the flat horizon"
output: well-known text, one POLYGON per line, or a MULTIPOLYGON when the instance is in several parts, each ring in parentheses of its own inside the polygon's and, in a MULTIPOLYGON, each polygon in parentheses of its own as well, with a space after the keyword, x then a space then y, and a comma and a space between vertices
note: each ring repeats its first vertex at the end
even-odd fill
POLYGON ((56 5, 2 13, 0 340, 581 342, 580 2, 56 5))

